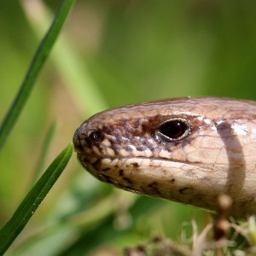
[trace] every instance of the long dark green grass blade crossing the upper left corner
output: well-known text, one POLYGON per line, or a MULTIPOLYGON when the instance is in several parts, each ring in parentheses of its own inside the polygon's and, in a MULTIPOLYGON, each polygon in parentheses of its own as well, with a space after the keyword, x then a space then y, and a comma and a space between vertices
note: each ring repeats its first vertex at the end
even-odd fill
POLYGON ((63 0, 60 8, 55 14, 49 31, 44 36, 43 40, 38 46, 38 49, 33 57, 32 63, 28 68, 26 77, 20 85, 20 90, 15 97, 14 102, 9 108, 8 113, 3 119, 3 124, 0 127, 0 150, 3 148, 3 144, 9 135, 9 132, 14 127, 16 120, 18 119, 21 109, 24 107, 30 92, 32 91, 35 80, 38 77, 38 73, 44 65, 44 61, 49 55, 50 49, 52 49, 56 38, 58 37, 61 27, 67 18, 69 10, 73 6, 75 0, 63 0))

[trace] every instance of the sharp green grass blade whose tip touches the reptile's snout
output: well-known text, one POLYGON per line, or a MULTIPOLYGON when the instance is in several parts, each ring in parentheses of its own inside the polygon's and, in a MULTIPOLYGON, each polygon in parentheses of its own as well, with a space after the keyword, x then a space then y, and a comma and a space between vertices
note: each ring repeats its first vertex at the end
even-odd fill
POLYGON ((73 144, 69 144, 49 165, 42 177, 38 179, 38 182, 20 203, 14 215, 0 230, 0 255, 6 252, 21 230, 24 229, 29 219, 32 218, 33 213, 38 209, 49 189, 52 188, 58 177, 60 177, 61 172, 67 166, 72 154, 73 144))

